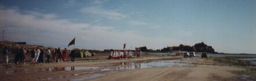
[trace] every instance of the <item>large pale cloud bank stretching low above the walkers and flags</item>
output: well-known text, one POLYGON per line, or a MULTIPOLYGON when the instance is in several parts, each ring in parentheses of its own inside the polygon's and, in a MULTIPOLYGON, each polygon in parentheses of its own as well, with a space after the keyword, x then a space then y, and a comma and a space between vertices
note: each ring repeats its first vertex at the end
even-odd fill
POLYGON ((6 39, 11 41, 27 41, 28 44, 52 47, 67 47, 76 37, 76 47, 87 49, 121 49, 123 43, 127 47, 147 46, 162 48, 177 44, 173 38, 140 36, 136 30, 118 31, 109 26, 93 26, 77 24, 67 19, 60 19, 54 14, 19 10, 0 9, 0 27, 6 30, 6 39))

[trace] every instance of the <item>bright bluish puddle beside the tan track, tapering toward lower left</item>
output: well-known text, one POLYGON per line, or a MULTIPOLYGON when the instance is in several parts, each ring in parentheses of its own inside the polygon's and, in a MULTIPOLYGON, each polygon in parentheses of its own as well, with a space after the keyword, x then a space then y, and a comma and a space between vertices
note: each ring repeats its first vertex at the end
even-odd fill
MULTIPOLYGON (((101 72, 112 71, 108 73, 108 74, 112 74, 112 73, 116 73, 124 70, 136 70, 136 69, 152 68, 152 67, 183 67, 183 66, 189 65, 189 64, 184 64, 181 61, 182 60, 180 61, 179 60, 156 60, 156 61, 142 61, 142 62, 129 61, 129 62, 122 62, 122 63, 115 63, 113 66, 116 66, 116 67, 101 67, 100 71, 101 72)), ((108 74, 94 73, 89 76, 82 76, 81 78, 76 78, 71 80, 72 81, 89 80, 89 79, 98 78, 100 76, 105 76, 108 74)))

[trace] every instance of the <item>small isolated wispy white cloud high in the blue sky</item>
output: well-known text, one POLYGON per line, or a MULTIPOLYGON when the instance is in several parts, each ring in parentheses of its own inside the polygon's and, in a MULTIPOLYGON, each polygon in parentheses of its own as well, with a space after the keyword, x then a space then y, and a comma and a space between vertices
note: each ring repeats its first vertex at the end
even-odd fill
POLYGON ((112 19, 112 20, 120 20, 120 19, 126 17, 125 14, 118 13, 117 11, 101 9, 101 6, 85 7, 83 9, 81 9, 80 11, 82 13, 94 14, 94 15, 106 17, 106 18, 112 19))

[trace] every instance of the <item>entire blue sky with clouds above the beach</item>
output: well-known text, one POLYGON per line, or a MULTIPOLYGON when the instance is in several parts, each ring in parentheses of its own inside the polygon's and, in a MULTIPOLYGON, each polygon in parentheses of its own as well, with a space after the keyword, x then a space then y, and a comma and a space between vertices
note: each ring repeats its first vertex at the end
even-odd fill
POLYGON ((204 42, 256 53, 255 0, 1 0, 5 40, 83 49, 162 49, 204 42))

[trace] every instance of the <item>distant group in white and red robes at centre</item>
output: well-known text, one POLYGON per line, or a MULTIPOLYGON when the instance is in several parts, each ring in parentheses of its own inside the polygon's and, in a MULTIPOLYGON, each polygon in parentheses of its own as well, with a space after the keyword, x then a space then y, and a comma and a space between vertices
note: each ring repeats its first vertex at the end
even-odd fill
POLYGON ((136 51, 135 53, 132 51, 114 51, 111 49, 109 52, 108 59, 126 59, 131 58, 132 56, 141 57, 141 51, 136 51))

